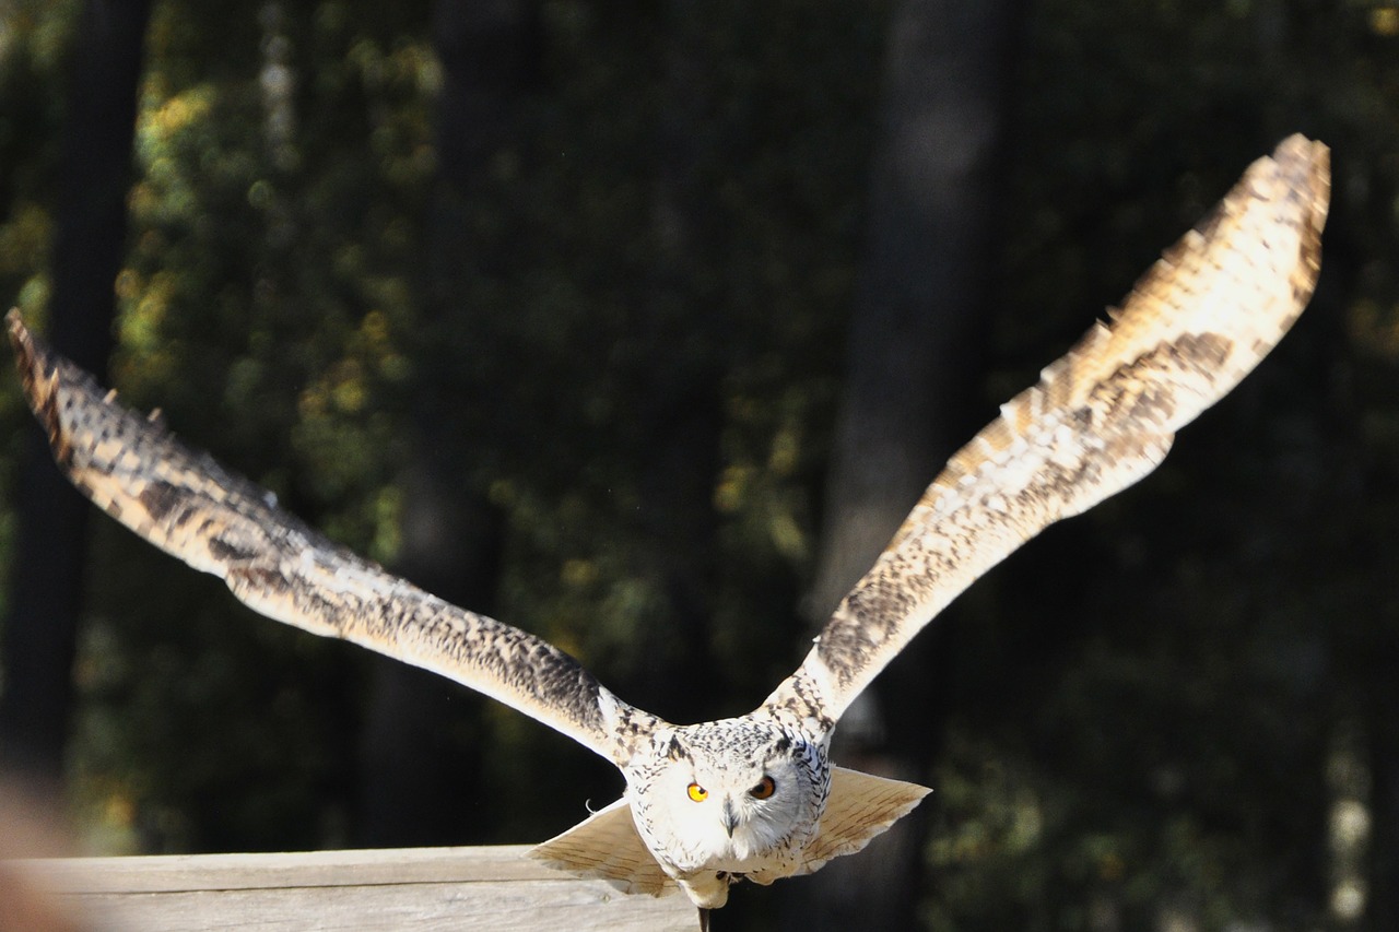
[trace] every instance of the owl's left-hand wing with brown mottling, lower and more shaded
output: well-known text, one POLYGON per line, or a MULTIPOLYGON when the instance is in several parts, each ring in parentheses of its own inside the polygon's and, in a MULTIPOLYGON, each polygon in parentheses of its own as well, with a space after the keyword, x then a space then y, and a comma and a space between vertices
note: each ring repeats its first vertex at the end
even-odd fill
POLYGON ((553 645, 332 543, 270 493, 119 404, 35 339, 17 311, 7 322, 29 407, 73 484, 157 547, 221 577, 257 612, 457 680, 618 765, 655 726, 553 645))

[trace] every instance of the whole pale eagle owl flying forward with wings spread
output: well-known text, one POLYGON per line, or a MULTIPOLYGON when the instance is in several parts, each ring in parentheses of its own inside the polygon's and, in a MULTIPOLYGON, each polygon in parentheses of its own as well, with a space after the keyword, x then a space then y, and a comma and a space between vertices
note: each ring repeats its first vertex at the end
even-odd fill
POLYGON ((747 715, 698 725, 630 705, 550 644, 332 543, 122 407, 15 311, 8 329, 55 458, 98 507, 271 619, 435 670, 611 760, 623 799, 532 855, 628 893, 679 887, 706 918, 732 883, 856 852, 929 792, 834 767, 842 712, 963 589, 1143 479, 1273 348, 1315 285, 1329 192, 1321 143, 1293 136, 1254 162, 1109 322, 951 458, 797 670, 747 715))

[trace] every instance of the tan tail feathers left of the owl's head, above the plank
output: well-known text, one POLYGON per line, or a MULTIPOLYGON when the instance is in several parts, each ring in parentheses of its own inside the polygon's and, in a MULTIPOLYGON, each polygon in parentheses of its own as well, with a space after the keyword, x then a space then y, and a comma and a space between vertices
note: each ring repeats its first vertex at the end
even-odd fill
POLYGON ((646 851, 625 799, 595 812, 526 854, 555 870, 606 880, 623 893, 660 897, 679 889, 646 851))

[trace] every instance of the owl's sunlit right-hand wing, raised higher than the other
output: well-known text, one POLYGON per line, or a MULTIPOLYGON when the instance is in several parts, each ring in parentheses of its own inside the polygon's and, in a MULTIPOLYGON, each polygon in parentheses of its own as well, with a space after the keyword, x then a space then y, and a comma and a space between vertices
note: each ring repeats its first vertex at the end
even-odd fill
POLYGON ((933 616, 1044 528, 1143 479, 1311 298, 1329 151, 1254 162, 1039 383, 958 451, 764 709, 830 728, 933 616))

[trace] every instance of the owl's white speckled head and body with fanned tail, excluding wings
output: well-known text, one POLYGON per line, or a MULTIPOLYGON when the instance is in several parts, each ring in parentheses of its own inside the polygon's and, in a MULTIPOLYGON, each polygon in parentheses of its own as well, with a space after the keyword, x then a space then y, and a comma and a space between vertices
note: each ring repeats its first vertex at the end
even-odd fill
POLYGON ((625 768, 627 795, 530 856, 627 893, 679 883, 701 908, 739 879, 771 883, 859 851, 928 789, 832 768, 771 719, 666 725, 625 768))

